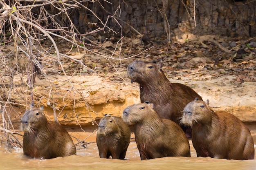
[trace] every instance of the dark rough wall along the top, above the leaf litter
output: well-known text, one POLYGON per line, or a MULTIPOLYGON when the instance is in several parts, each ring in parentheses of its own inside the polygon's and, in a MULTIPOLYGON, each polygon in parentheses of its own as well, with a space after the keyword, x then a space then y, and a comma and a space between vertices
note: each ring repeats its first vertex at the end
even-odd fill
POLYGON ((72 16, 81 33, 88 33, 98 27, 103 28, 107 23, 108 28, 105 27, 104 31, 97 33, 115 35, 115 32, 118 32, 126 36, 142 34, 150 39, 162 38, 166 37, 164 20, 167 18, 167 28, 171 35, 194 33, 231 37, 256 36, 256 1, 195 0, 195 8, 194 0, 169 0, 165 8, 162 0, 99 0, 93 3, 83 2, 83 5, 84 7, 72 16), (109 16, 114 16, 115 19, 109 16), (109 31, 110 29, 115 32, 109 31))

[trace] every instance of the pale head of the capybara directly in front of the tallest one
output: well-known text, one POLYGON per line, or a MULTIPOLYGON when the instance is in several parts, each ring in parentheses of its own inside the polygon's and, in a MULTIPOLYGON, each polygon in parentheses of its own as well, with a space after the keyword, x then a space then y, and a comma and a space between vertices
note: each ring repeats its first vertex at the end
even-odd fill
POLYGON ((136 124, 143 121, 145 117, 152 117, 152 114, 157 115, 154 110, 154 104, 149 102, 133 104, 124 109, 123 120, 127 124, 136 124))

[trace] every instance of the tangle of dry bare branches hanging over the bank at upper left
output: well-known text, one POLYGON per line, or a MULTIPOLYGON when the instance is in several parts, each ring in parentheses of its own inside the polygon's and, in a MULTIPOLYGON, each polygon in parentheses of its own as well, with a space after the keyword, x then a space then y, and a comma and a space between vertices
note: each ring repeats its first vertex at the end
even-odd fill
MULTIPOLYGON (((125 22, 120 19, 122 2, 119 1, 119 4, 115 7, 109 1, 103 1, 103 3, 94 0, 13 0, 8 2, 0 0, 0 36, 3 37, 1 43, 11 43, 13 46, 13 49, 11 49, 9 54, 4 55, 0 51, 0 62, 2 62, 6 69, 6 75, 4 76, 8 75, 10 81, 9 86, 5 86, 2 76, 0 75, 0 79, 3 82, 2 88, 4 89, 4 95, 6 96, 5 101, 1 102, 4 106, 1 107, 2 122, 0 131, 4 132, 5 138, 8 141, 9 150, 11 146, 15 145, 10 137, 14 135, 13 137, 15 138, 15 135, 19 134, 16 133, 13 128, 9 112, 6 109, 7 104, 15 106, 29 106, 31 102, 37 102, 37 105, 39 105, 42 99, 47 100, 47 105, 52 107, 54 112, 54 120, 58 122, 59 114, 57 115, 56 110, 59 108, 57 107, 53 93, 55 88, 54 81, 56 80, 49 76, 49 68, 47 68, 48 65, 55 67, 56 73, 60 72, 65 76, 65 80, 62 81, 68 82, 69 84, 69 90, 67 93, 81 95, 85 106, 87 107, 88 115, 92 117, 91 114, 97 115, 97 113, 94 112, 87 103, 84 97, 85 94, 76 89, 70 81, 73 75, 81 73, 84 68, 94 72, 94 69, 89 68, 84 62, 86 54, 90 53, 90 55, 107 59, 118 73, 118 70, 113 63, 114 60, 118 60, 121 65, 122 60, 135 57, 152 48, 150 47, 141 51, 137 55, 133 55, 128 58, 123 57, 122 46, 124 35, 123 28, 119 23, 125 22), (106 16, 105 19, 102 19, 97 15, 94 9, 89 8, 89 3, 102 8, 104 11, 107 10, 103 3, 105 3, 105 5, 107 3, 112 6, 112 12, 108 12, 108 16, 106 16), (75 11, 82 10, 86 11, 86 13, 89 13, 95 18, 95 20, 97 20, 97 23, 87 22, 88 31, 86 33, 80 33, 72 20, 73 13, 75 11), (110 26, 108 26, 108 22, 115 22, 116 27, 119 28, 119 32, 115 31, 116 29, 110 28, 110 26), (102 42, 97 41, 97 39, 90 40, 87 38, 89 35, 95 36, 99 33, 108 33, 119 37, 115 42, 113 50, 104 48, 102 46, 102 42), (84 40, 90 41, 85 42, 84 40), (66 44, 69 46, 69 50, 62 52, 59 47, 60 44, 66 44), (84 53, 83 59, 79 60, 72 57, 70 53, 72 53, 74 49, 77 49, 79 53, 80 51, 81 53, 84 53), (101 49, 104 52, 94 49, 101 49), (25 62, 25 65, 21 64, 21 60, 27 61, 25 62), (73 73, 67 73, 67 70, 63 66, 63 60, 71 60, 78 64, 80 68, 75 70, 73 73), (71 75, 71 77, 67 74, 71 75), (15 103, 10 100, 12 95, 16 95, 14 94, 14 91, 19 91, 17 89, 18 86, 16 87, 13 85, 14 76, 19 77, 20 84, 27 88, 25 91, 26 97, 23 97, 21 92, 17 95, 17 97, 22 97, 25 104, 15 103), (34 89, 33 85, 36 76, 42 76, 47 80, 49 86, 49 93, 47 92, 47 95, 40 94, 40 92, 36 92, 34 89)), ((129 25, 128 23, 126 24, 129 25)), ((135 31, 139 37, 142 37, 139 31, 134 29, 132 26, 130 26, 130 28, 135 31)), ((110 38, 106 38, 105 40, 110 40, 110 38)), ((121 74, 119 75, 121 77, 121 74)), ((63 100, 66 95, 64 95, 63 100)), ((76 115, 75 104, 76 101, 74 96, 74 115, 76 115)), ((60 110, 62 109, 63 108, 60 108, 60 110)), ((78 126, 82 129, 77 117, 76 121, 78 126)), ((92 118, 92 124, 95 122, 96 121, 92 118)), ((15 138, 14 140, 17 139, 15 138)), ((20 144, 20 142, 17 141, 16 144, 20 144)))

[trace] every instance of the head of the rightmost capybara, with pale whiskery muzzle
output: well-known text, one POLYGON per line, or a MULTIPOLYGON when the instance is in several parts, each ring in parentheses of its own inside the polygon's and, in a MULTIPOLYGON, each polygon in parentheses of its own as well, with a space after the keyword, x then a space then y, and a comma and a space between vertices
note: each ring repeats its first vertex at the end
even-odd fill
POLYGON ((206 102, 203 102, 202 100, 195 98, 193 102, 190 102, 184 108, 181 123, 187 126, 193 126, 193 124, 202 121, 207 123, 208 121, 211 121, 211 112, 213 111, 209 107, 208 99, 206 102))

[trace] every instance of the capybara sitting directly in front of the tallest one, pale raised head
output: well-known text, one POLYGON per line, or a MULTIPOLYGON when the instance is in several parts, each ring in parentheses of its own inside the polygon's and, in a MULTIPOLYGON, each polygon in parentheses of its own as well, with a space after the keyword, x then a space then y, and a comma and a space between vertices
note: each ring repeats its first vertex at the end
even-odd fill
POLYGON ((123 120, 134 125, 141 160, 190 157, 189 141, 182 128, 169 119, 159 117, 153 104, 141 103, 126 107, 123 120))

